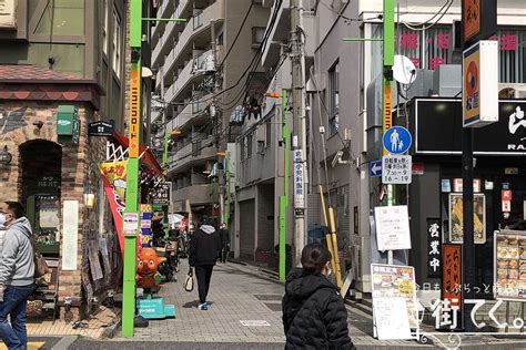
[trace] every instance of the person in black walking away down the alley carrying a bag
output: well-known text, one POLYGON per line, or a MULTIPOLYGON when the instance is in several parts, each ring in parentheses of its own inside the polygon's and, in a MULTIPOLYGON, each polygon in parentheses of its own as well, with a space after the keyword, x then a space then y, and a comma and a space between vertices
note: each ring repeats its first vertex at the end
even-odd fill
POLYGON ((219 233, 211 225, 202 225, 190 238, 190 267, 195 269, 200 310, 208 310, 210 280, 218 256, 221 253, 219 233))

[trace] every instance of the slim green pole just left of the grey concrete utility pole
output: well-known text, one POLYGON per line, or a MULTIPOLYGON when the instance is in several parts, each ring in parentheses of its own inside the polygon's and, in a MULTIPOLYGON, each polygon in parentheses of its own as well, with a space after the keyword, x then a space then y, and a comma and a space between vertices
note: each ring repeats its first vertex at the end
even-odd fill
POLYGON ((281 92, 281 124, 283 137, 283 196, 280 196, 280 281, 285 281, 286 274, 286 210, 289 207, 289 127, 286 126, 286 90, 281 92))

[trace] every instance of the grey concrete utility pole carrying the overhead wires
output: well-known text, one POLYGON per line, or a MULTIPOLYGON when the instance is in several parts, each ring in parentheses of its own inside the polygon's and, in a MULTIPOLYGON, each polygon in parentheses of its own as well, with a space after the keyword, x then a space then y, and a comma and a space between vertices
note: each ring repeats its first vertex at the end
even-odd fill
POLYGON ((305 214, 306 205, 306 132, 304 106, 304 54, 302 40, 302 4, 301 0, 291 0, 291 44, 292 44, 292 109, 294 151, 294 264, 301 264, 303 247, 305 246, 305 214))

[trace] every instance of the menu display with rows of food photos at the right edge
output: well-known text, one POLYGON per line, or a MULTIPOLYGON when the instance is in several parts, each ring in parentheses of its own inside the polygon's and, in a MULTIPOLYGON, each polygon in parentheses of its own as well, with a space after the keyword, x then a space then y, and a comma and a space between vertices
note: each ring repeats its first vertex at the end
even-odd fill
POLYGON ((495 298, 526 301, 526 231, 495 236, 495 298))

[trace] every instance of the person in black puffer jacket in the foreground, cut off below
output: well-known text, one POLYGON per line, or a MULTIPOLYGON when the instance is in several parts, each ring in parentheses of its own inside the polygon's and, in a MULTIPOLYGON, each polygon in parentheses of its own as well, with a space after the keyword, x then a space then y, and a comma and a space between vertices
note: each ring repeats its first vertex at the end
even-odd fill
POLYGON ((355 349, 348 336, 347 310, 331 274, 331 253, 313 243, 302 251, 302 269, 285 284, 285 349, 355 349))

